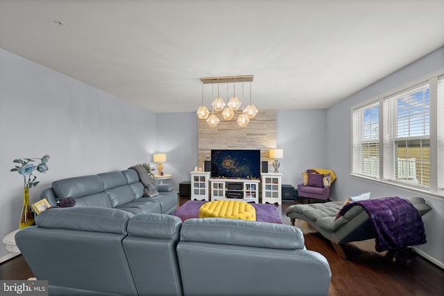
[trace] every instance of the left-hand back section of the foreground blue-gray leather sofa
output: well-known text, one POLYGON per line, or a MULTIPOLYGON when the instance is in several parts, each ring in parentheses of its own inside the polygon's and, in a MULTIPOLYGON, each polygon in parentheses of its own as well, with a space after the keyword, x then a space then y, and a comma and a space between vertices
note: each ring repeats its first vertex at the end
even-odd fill
POLYGON ((49 295, 139 295, 123 240, 133 217, 117 209, 48 209, 16 242, 49 295))

